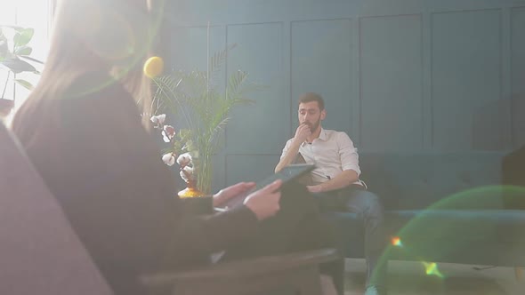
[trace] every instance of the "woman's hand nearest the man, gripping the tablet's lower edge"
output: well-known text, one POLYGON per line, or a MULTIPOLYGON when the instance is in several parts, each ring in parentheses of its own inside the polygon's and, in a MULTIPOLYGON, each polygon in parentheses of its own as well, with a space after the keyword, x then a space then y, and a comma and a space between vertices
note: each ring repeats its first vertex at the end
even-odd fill
POLYGON ((257 219, 267 219, 279 211, 279 188, 282 184, 283 182, 280 179, 273 181, 268 186, 246 197, 245 205, 255 213, 257 219))

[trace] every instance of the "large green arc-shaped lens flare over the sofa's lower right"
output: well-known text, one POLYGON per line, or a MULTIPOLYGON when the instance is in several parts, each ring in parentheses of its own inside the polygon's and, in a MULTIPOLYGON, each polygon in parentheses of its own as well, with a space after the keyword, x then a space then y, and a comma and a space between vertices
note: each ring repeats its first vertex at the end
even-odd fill
MULTIPOLYGON (((524 201, 525 187, 490 185, 446 195, 420 210, 400 211, 400 221, 407 222, 390 237, 378 263, 386 265, 391 259, 419 261, 426 275, 443 279, 436 262, 467 255, 472 244, 492 243, 501 230, 502 214, 505 218, 513 214, 501 209, 524 201)), ((524 233, 513 231, 520 241, 525 241, 524 233)))

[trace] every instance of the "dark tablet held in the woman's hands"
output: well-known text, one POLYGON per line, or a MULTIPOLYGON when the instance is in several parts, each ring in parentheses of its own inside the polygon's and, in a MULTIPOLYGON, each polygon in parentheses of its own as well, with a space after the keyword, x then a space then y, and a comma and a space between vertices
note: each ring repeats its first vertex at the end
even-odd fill
POLYGON ((315 168, 315 165, 308 164, 308 163, 297 163, 297 164, 290 164, 287 165, 283 170, 271 174, 271 176, 261 180, 257 181, 255 184, 255 187, 248 191, 246 194, 238 195, 235 197, 232 197, 230 200, 228 200, 226 203, 222 204, 221 207, 215 207, 216 211, 226 211, 229 208, 241 205, 244 203, 246 196, 250 195, 254 191, 261 189, 263 187, 266 187, 267 185, 271 184, 273 181, 277 179, 281 179, 283 181, 283 186, 291 180, 297 179, 300 176, 303 176, 305 173, 308 173, 315 168))

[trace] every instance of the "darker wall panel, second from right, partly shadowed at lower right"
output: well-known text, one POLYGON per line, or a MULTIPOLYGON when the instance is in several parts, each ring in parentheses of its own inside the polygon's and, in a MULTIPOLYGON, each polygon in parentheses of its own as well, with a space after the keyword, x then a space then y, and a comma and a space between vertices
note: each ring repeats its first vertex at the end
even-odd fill
POLYGON ((501 100, 500 49, 499 10, 432 15, 432 148, 474 148, 475 117, 501 100))

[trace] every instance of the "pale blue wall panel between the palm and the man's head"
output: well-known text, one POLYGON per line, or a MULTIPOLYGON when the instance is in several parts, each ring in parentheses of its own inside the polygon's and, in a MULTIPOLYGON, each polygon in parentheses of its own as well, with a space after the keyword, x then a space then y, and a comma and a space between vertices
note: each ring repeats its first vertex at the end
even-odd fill
POLYGON ((228 57, 228 74, 241 69, 265 86, 250 92, 254 105, 235 108, 226 134, 230 154, 276 154, 289 134, 290 109, 284 91, 283 24, 228 26, 228 43, 238 44, 228 57))

